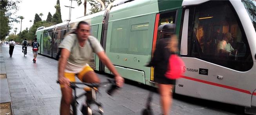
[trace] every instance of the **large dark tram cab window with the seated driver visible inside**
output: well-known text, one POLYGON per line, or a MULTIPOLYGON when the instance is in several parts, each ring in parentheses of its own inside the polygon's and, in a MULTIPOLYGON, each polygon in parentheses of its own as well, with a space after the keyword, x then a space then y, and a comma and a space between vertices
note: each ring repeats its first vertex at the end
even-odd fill
POLYGON ((196 6, 191 43, 196 58, 239 71, 252 67, 247 38, 228 1, 196 6))

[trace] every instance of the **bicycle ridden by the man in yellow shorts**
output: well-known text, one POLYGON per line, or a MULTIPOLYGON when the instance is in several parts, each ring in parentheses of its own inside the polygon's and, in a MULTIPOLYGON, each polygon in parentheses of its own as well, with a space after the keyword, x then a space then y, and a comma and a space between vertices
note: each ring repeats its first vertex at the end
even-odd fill
MULTIPOLYGON (((102 86, 103 84, 111 84, 111 87, 107 90, 108 95, 112 95, 113 92, 118 89, 119 87, 116 85, 115 80, 107 79, 107 82, 102 83, 80 83, 80 82, 70 82, 70 87, 74 90, 73 100, 71 102, 72 106, 72 113, 71 115, 77 115, 77 106, 78 101, 77 99, 81 98, 85 95, 85 104, 82 105, 81 112, 83 115, 103 115, 103 108, 102 103, 96 101, 96 92, 98 91, 98 87, 102 86), (88 87, 79 87, 76 84, 84 84, 88 87), (76 96, 76 88, 83 89, 85 93, 82 93, 76 96), (91 109, 91 104, 96 104, 98 106, 98 111, 93 111, 91 109)), ((57 83, 59 83, 57 81, 57 83)))

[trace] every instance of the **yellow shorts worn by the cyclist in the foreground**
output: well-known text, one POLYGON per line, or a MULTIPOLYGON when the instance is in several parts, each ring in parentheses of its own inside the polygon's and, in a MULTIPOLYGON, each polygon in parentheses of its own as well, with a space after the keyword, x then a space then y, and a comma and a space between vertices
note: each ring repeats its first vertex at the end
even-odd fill
MULTIPOLYGON (((84 75, 89 71, 94 71, 94 70, 90 66, 85 66, 83 70, 78 74, 64 72, 64 77, 69 79, 71 82, 75 82, 76 81, 75 75, 77 75, 78 79, 80 79, 80 81, 83 81, 84 75)), ((60 85, 60 87, 63 88, 64 86, 60 85)))

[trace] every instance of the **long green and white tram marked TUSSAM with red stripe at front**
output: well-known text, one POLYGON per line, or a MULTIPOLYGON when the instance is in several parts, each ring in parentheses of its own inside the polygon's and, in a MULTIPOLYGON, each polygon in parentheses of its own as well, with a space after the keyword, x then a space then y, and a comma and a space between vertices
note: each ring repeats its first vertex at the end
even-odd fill
MULTIPOLYGON (((247 113, 256 107, 254 0, 119 0, 111 9, 38 28, 40 54, 56 58, 61 40, 80 21, 91 24, 91 34, 123 77, 151 86, 154 71, 145 65, 159 39, 158 26, 174 23, 185 62, 175 93, 245 106, 247 113), (228 33, 225 43, 235 53, 223 56, 218 49, 228 33)), ((89 65, 111 74, 96 54, 89 65)))

